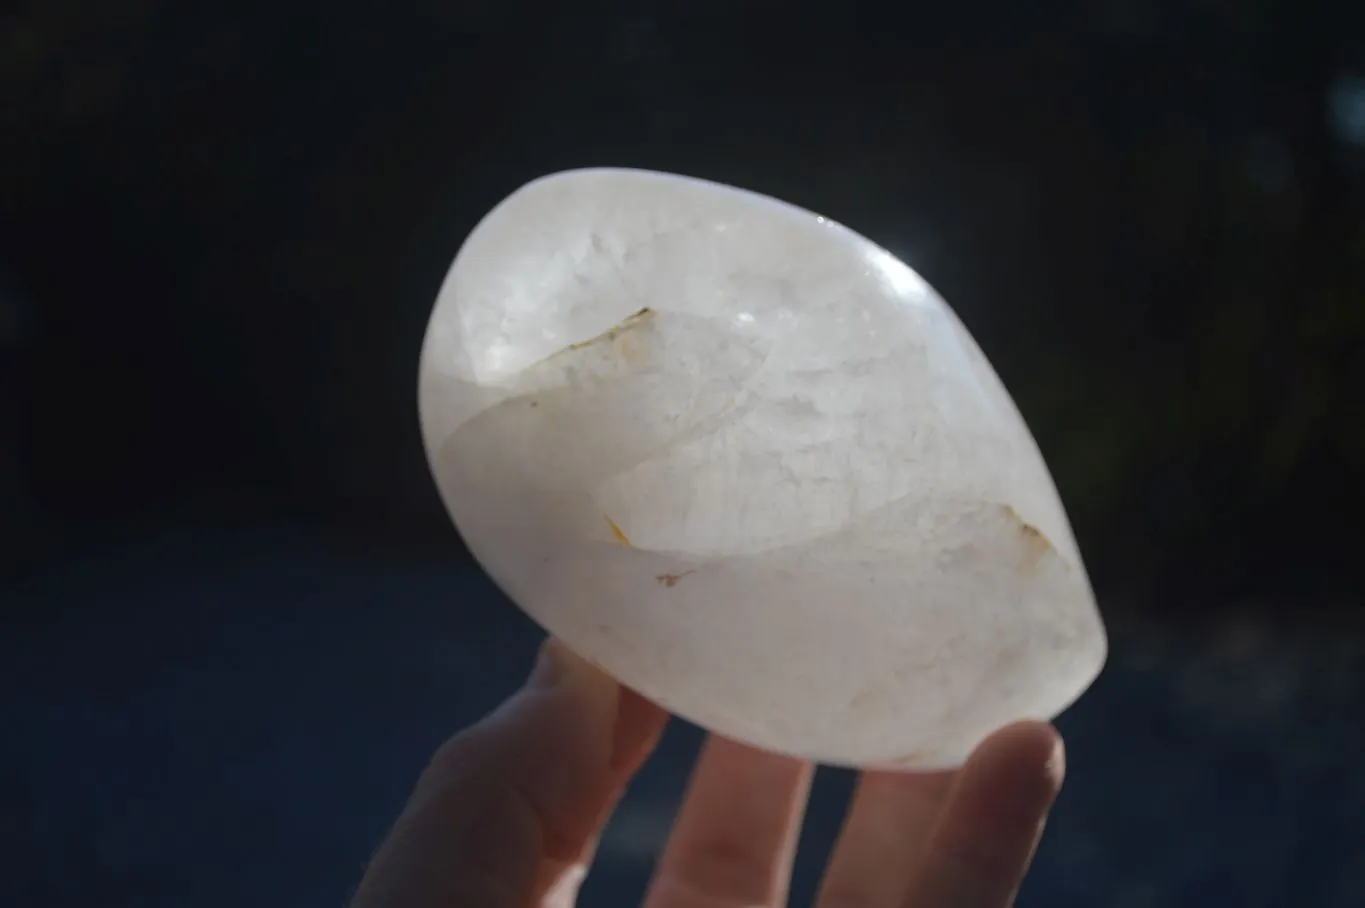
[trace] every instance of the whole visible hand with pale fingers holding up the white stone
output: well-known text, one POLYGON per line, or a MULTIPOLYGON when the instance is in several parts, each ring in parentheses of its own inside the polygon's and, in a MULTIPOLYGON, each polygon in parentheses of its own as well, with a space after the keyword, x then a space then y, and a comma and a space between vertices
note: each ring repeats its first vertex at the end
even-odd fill
MULTIPOLYGON (((517 694, 446 741, 352 908, 571 908, 667 714, 549 642, 517 694)), ((1006 908, 1062 784, 1041 722, 951 773, 864 773, 816 908, 1006 908)), ((711 736, 644 908, 779 908, 814 767, 711 736)))

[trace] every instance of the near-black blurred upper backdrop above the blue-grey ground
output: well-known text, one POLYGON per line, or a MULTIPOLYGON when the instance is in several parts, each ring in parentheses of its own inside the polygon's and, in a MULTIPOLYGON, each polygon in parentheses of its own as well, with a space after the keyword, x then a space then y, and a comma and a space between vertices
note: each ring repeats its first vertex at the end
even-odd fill
POLYGON ((1360 4, 42 0, 0 44, 56 512, 235 489, 440 533, 411 401, 435 287, 501 195, 605 162, 790 198, 920 269, 1100 586, 1353 573, 1360 4))

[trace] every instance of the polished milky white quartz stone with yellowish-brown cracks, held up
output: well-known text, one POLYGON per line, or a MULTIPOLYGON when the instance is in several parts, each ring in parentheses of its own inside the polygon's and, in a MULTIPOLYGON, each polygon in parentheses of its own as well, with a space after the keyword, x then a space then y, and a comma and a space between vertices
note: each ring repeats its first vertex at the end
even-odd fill
POLYGON ((950 767, 1104 662, 995 371, 919 274, 807 210, 644 171, 530 183, 460 249, 419 404, 494 580, 713 732, 950 767))

